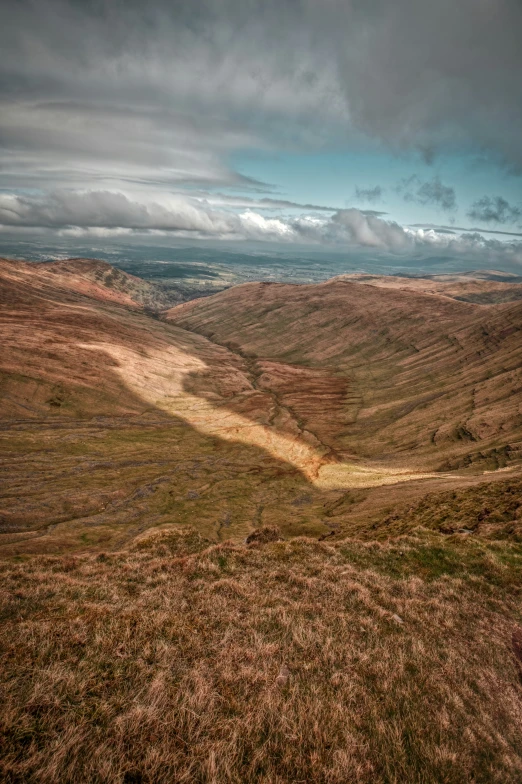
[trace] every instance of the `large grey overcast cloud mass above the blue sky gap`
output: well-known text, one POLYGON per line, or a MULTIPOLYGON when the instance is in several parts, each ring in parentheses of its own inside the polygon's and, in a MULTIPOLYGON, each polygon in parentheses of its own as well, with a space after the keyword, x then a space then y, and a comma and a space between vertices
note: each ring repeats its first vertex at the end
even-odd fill
POLYGON ((230 151, 370 136, 520 169, 519 0, 4 0, 10 182, 240 179, 230 151))

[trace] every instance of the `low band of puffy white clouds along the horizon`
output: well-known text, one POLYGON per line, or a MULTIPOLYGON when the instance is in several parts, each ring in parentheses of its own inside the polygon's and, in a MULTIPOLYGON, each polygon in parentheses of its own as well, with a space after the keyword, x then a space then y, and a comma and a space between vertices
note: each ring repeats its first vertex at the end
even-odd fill
POLYGON ((0 229, 74 238, 160 235, 189 239, 256 241, 323 249, 374 251, 422 259, 433 253, 474 265, 522 264, 522 242, 484 239, 477 232, 449 234, 401 226, 355 208, 267 217, 251 207, 237 213, 187 195, 156 194, 151 200, 122 192, 58 190, 45 197, 0 194, 0 229))

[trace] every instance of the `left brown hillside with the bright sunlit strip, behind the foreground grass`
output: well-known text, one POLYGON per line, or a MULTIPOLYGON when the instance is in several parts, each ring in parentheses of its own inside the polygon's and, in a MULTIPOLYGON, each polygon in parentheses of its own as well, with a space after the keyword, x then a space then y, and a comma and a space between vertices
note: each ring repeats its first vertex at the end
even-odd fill
POLYGON ((339 487, 418 475, 346 464, 322 477, 328 445, 248 360, 39 265, 7 263, 0 283, 4 552, 117 547, 194 516, 217 539, 281 516, 322 534, 339 487))

